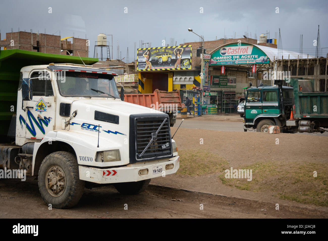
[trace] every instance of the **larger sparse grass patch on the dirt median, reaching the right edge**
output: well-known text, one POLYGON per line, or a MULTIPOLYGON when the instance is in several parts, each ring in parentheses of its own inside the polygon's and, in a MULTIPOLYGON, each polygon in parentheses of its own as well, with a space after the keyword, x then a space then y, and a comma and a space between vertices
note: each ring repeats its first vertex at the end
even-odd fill
POLYGON ((219 175, 222 184, 240 190, 271 191, 274 196, 305 204, 328 206, 327 179, 328 169, 322 163, 297 162, 257 162, 247 167, 233 167, 234 169, 251 169, 252 181, 246 178, 225 178, 225 173, 219 175), (314 177, 314 171, 317 176, 314 177))

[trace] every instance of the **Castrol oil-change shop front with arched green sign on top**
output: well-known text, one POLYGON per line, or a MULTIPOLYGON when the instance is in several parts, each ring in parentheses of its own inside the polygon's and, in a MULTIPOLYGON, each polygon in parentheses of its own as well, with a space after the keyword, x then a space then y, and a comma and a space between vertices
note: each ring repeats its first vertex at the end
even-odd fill
POLYGON ((258 71, 272 68, 268 56, 250 43, 229 43, 204 54, 203 105, 217 106, 217 113, 236 113, 238 100, 244 97, 249 83, 258 84, 258 71), (208 61, 208 70, 207 70, 208 61), (214 97, 214 96, 217 96, 214 97))

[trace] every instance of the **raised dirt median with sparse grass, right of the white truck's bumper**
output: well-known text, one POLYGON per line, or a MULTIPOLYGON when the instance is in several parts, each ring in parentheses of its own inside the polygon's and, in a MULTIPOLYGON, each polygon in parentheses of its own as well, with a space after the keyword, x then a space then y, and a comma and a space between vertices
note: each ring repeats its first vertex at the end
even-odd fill
POLYGON ((180 128, 174 139, 180 169, 153 184, 328 210, 327 137, 180 128), (231 167, 252 181, 225 178, 231 167))

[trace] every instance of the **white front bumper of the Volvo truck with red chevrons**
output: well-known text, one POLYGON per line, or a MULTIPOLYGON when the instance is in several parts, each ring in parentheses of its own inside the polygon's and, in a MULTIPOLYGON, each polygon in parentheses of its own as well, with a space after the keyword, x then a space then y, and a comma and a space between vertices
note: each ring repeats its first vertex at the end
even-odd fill
POLYGON ((138 162, 124 167, 100 169, 95 167, 79 166, 80 179, 84 181, 106 184, 119 182, 137 182, 154 177, 175 173, 179 169, 179 156, 172 158, 138 162), (170 164, 173 164, 170 165, 170 164), (162 166, 162 172, 153 174, 153 168, 162 166), (169 169, 168 169, 169 168, 169 169))

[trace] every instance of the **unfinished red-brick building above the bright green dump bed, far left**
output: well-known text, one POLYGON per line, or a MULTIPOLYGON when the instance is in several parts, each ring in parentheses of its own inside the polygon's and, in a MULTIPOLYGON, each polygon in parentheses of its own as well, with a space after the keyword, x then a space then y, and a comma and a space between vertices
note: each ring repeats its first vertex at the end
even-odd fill
POLYGON ((68 55, 70 52, 73 56, 78 56, 79 53, 81 57, 88 57, 89 46, 87 41, 87 39, 74 37, 61 40, 59 35, 19 31, 6 33, 6 38, 3 40, 1 40, 0 35, 0 50, 20 49, 64 55, 68 55))

